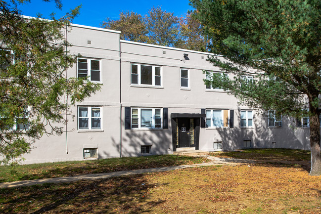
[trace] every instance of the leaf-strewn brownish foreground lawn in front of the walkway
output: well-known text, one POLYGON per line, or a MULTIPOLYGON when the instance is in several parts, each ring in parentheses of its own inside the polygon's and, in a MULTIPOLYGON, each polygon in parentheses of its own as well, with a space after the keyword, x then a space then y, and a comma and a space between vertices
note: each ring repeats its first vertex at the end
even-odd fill
POLYGON ((320 177, 300 166, 211 166, 0 189, 5 214, 321 214, 320 177))

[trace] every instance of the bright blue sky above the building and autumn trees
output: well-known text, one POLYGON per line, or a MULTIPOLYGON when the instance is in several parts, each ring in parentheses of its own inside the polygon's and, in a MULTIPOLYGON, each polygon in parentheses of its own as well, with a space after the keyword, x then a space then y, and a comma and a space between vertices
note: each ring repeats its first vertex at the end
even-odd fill
POLYGON ((51 12, 56 13, 56 18, 63 16, 70 9, 82 4, 80 15, 73 21, 75 24, 100 27, 100 23, 109 17, 118 19, 119 12, 134 11, 139 14, 146 14, 154 6, 161 6, 162 10, 174 12, 176 16, 185 16, 189 6, 188 0, 62 0, 62 10, 55 7, 53 2, 42 0, 31 0, 31 3, 20 4, 18 8, 26 16, 37 16, 42 13, 43 18, 50 18, 51 12))

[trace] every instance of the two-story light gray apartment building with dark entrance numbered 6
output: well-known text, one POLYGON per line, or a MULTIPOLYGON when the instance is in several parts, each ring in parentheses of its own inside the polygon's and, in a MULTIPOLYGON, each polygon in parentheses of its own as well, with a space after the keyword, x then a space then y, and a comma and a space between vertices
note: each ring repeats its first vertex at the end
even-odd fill
POLYGON ((101 90, 72 106, 66 132, 43 136, 23 164, 173 154, 184 147, 310 149, 308 118, 265 118, 222 88, 205 86, 204 79, 223 75, 206 61, 213 54, 122 41, 119 34, 81 25, 66 33, 70 53, 81 54, 67 77, 88 77, 101 90))

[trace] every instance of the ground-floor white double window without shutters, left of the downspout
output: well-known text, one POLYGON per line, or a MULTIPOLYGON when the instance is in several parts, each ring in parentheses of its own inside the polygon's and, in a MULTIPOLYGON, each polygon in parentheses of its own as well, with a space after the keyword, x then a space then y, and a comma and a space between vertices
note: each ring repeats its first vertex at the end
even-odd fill
POLYGON ((78 107, 78 129, 101 129, 101 107, 78 107))

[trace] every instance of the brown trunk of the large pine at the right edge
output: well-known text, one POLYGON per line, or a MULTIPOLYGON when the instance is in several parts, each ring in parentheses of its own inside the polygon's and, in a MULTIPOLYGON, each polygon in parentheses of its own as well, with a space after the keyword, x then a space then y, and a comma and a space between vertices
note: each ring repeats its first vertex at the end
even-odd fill
POLYGON ((320 120, 318 109, 310 106, 310 145, 311 145, 311 171, 310 175, 321 175, 321 155, 320 155, 320 120))

